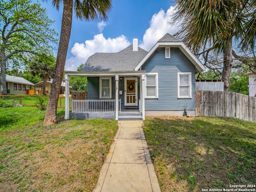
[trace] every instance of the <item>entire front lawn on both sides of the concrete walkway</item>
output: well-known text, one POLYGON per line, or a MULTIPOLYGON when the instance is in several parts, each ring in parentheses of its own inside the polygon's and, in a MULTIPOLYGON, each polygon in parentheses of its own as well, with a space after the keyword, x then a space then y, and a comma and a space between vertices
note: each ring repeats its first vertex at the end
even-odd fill
MULTIPOLYGON (((58 125, 46 127, 40 108, 0 108, 0 192, 95 188, 116 120, 64 120, 64 108, 57 112, 58 125)), ((256 123, 158 117, 144 121, 144 132, 162 192, 256 183, 256 123)))

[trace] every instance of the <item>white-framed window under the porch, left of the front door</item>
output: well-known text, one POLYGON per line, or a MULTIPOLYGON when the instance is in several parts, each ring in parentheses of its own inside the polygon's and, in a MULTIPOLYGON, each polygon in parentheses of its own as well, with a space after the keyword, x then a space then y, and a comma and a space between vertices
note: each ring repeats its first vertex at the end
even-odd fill
POLYGON ((111 77, 100 77, 100 98, 112 98, 111 77))

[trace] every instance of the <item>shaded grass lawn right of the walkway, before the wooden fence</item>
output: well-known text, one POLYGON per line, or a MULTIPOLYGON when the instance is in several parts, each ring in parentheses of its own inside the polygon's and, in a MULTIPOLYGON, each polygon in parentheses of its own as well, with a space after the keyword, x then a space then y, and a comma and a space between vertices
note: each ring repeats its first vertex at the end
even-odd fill
POLYGON ((256 123, 235 118, 148 118, 144 132, 161 190, 256 183, 256 123))

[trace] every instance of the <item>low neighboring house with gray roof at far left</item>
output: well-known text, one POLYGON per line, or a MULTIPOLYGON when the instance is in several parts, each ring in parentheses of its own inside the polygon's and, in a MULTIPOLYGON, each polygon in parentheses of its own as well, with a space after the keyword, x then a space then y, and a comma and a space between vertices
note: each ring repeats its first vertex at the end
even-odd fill
POLYGON ((34 86, 34 84, 22 77, 6 75, 7 93, 26 94, 29 86, 34 86))

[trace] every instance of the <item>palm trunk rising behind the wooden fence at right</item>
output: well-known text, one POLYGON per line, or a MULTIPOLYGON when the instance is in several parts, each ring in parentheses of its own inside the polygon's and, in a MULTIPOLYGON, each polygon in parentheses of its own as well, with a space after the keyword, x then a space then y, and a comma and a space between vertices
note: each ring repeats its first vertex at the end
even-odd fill
POLYGON ((224 91, 228 91, 232 70, 232 40, 227 43, 226 51, 223 54, 222 79, 224 80, 224 91))

